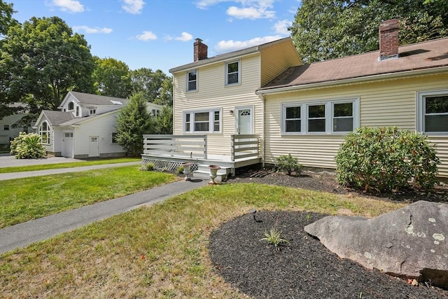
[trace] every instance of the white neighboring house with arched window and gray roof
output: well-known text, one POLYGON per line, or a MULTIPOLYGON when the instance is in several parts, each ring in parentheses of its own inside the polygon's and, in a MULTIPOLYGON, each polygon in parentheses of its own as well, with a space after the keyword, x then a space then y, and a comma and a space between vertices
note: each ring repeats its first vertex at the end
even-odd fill
MULTIPOLYGON (((43 110, 34 130, 50 155, 67 158, 120 157, 125 149, 115 139, 120 109, 129 99, 69 92, 60 111, 43 110)), ((148 104, 148 111, 162 106, 148 104)))

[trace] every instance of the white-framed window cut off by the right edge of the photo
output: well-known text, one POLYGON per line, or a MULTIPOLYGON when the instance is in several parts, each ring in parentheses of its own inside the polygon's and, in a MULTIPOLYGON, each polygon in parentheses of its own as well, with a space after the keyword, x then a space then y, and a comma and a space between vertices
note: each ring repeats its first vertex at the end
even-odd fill
POLYGON ((418 129, 429 134, 448 133, 448 90, 418 92, 418 129))

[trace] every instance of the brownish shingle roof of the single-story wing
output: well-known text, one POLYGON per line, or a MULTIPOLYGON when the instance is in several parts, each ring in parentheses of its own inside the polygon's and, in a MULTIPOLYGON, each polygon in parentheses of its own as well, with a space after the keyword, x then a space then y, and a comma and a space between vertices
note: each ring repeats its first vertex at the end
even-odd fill
POLYGON ((399 53, 399 58, 382 61, 378 61, 379 52, 375 51, 290 67, 258 91, 446 67, 448 38, 401 46, 399 53))

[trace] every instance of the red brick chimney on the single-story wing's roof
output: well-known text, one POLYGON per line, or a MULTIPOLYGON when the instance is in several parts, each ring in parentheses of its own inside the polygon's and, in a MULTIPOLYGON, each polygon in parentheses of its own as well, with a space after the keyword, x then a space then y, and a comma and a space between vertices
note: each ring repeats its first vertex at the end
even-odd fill
POLYGON ((398 19, 379 24, 379 60, 398 57, 398 19))

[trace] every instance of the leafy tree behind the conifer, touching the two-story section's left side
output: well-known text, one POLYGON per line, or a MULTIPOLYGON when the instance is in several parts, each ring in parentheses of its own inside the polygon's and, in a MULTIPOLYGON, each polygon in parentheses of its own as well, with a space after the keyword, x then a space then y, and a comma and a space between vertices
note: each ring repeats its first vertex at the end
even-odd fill
POLYGON ((148 102, 172 105, 172 78, 158 69, 141 68, 131 71, 132 92, 143 92, 148 102))

